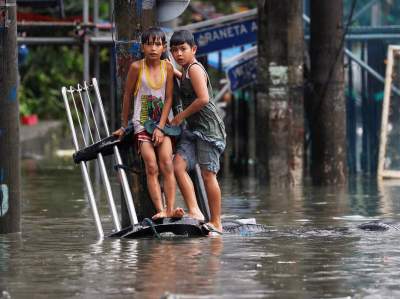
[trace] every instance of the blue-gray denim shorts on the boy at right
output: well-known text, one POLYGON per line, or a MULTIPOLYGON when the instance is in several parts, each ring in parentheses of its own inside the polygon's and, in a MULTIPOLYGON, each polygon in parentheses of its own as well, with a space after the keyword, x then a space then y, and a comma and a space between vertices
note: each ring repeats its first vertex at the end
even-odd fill
POLYGON ((213 143, 201 139, 189 130, 182 132, 176 148, 176 153, 186 161, 188 170, 193 170, 196 163, 199 163, 201 169, 213 173, 219 171, 219 157, 222 152, 213 143))

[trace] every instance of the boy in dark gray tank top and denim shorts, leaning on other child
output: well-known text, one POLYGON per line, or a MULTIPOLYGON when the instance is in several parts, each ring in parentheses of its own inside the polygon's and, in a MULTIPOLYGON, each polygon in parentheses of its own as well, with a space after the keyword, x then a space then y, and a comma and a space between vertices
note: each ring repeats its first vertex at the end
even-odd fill
POLYGON ((196 44, 187 30, 174 32, 170 50, 175 61, 183 67, 180 97, 183 111, 171 121, 179 125, 186 120, 187 128, 178 141, 174 157, 175 177, 188 206, 189 216, 204 220, 187 170, 199 163, 210 207, 210 222, 204 224, 209 232, 222 233, 221 190, 217 173, 219 157, 225 149, 225 126, 212 100, 210 80, 204 67, 196 60, 196 44))

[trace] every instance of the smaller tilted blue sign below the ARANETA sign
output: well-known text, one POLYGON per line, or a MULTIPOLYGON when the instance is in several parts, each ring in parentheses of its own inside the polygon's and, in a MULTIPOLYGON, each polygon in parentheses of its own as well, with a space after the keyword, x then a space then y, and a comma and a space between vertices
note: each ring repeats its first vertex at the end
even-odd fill
POLYGON ((255 83, 257 80, 257 56, 253 56, 228 68, 226 75, 232 91, 255 83))

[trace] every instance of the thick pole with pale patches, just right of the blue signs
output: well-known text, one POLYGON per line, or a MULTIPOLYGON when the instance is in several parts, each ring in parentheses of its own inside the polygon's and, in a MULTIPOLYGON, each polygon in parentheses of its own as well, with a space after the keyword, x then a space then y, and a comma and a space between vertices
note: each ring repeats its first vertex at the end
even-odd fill
POLYGON ((303 175, 303 1, 258 1, 257 159, 271 186, 303 175))

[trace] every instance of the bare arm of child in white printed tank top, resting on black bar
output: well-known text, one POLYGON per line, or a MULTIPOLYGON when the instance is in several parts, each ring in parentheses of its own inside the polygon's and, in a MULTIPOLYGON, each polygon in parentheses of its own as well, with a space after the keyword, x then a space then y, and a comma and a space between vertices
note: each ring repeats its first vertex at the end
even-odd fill
POLYGON ((138 80, 139 63, 134 62, 129 67, 128 75, 126 76, 124 97, 122 101, 122 113, 121 113, 121 128, 113 133, 113 135, 121 136, 124 133, 125 128, 128 126, 128 117, 131 110, 131 97, 138 80))

